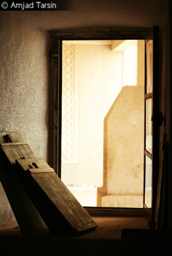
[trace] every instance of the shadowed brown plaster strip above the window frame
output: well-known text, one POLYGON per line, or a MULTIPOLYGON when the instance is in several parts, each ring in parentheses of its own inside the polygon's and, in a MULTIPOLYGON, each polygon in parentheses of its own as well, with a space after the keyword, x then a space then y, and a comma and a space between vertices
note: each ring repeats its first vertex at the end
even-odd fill
MULTIPOLYGON (((59 0, 62 1, 62 0, 59 0)), ((115 30, 151 28, 162 24, 168 0, 68 0, 69 11, 13 11, 43 30, 83 30, 105 27, 115 30)), ((91 29, 93 30, 93 29, 91 29)))

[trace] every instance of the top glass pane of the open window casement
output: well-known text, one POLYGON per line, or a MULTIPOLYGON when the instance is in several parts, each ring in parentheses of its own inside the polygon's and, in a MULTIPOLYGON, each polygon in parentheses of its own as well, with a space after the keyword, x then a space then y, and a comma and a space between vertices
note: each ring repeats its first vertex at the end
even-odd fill
POLYGON ((153 80, 153 40, 146 44, 146 66, 147 66, 147 93, 152 92, 153 80))

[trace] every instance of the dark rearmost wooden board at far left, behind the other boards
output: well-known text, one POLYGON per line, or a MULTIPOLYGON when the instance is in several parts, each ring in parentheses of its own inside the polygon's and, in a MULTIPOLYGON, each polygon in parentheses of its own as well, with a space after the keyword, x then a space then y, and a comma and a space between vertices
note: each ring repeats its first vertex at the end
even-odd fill
MULTIPOLYGON (((17 132, 0 132, 0 143, 8 142, 6 134, 10 134, 14 142, 22 142, 17 132)), ((14 154, 15 156, 13 155, 12 159, 7 161, 7 158, 4 158, 4 151, 0 151, 0 180, 21 232, 27 235, 45 229, 47 226, 26 193, 15 169, 15 157, 21 156, 18 151, 15 153, 16 155, 14 154)))

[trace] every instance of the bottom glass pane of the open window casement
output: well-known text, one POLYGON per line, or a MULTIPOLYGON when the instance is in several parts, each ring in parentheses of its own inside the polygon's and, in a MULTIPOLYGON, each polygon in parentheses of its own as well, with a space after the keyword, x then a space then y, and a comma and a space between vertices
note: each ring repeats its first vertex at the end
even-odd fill
POLYGON ((148 208, 152 207, 152 160, 146 157, 145 171, 145 198, 144 203, 148 208))

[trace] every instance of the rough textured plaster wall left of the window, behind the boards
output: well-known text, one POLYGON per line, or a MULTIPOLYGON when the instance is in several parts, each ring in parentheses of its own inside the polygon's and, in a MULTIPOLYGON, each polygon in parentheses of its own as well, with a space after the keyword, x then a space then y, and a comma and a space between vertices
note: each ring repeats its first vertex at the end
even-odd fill
MULTIPOLYGON (((49 33, 0 13, 0 131, 17 131, 48 160, 49 33)), ((14 220, 0 184, 0 225, 14 220)))

